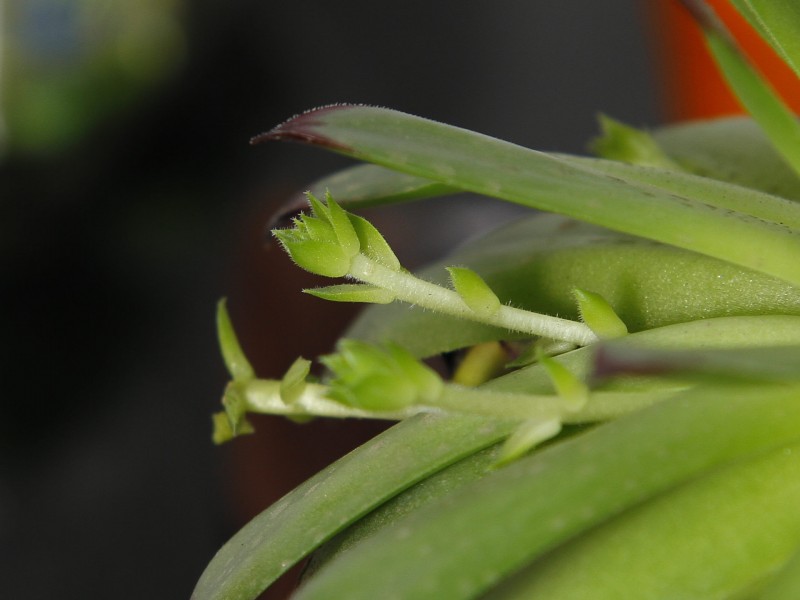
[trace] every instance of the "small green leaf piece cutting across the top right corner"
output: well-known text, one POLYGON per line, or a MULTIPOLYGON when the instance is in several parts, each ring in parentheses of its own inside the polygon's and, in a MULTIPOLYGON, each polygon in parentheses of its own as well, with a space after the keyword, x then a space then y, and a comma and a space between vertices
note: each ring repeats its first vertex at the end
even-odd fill
POLYGON ((800 76, 800 5, 794 0, 732 2, 800 76))

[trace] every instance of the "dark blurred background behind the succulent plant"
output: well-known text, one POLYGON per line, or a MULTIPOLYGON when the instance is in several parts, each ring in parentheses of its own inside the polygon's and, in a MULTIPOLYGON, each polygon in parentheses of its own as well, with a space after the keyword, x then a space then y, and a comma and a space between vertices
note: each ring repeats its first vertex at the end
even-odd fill
MULTIPOLYGON (((251 136, 359 102, 582 153, 599 111, 679 115, 665 65, 694 59, 664 51, 661 10, 0 0, 0 596, 188 598, 249 518, 377 430, 266 418, 211 444, 220 297, 264 377, 354 311, 303 296, 313 278, 265 247, 269 216, 349 163, 251 136)), ((413 267, 515 210, 370 218, 413 267)))

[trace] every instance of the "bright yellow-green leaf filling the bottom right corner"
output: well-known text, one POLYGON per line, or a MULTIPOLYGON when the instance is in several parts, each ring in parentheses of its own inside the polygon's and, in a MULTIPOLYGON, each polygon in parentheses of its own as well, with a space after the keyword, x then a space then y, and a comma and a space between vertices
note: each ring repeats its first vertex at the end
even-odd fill
POLYGON ((800 544, 798 503, 800 446, 794 444, 627 511, 484 597, 761 599, 753 592, 800 544))

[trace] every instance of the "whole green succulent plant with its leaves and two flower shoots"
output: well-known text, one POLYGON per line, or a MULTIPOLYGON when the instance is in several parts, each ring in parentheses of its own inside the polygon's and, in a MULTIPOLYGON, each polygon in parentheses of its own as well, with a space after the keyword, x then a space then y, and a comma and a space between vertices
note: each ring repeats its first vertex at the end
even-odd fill
MULTIPOLYGON (((259 137, 372 163, 276 236, 348 279, 312 293, 373 306, 320 382, 257 379, 221 313, 220 439, 255 411, 399 423, 237 533, 194 598, 255 598, 315 549, 297 598, 800 597, 800 127, 687 4, 751 119, 604 119, 599 158, 360 106, 259 137), (412 275, 349 212, 461 190, 557 214, 412 275), (420 362, 457 349, 452 381, 420 362)), ((734 4, 797 70, 795 4, 734 4)))

